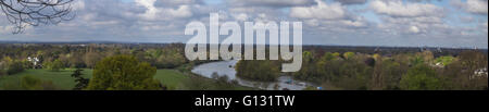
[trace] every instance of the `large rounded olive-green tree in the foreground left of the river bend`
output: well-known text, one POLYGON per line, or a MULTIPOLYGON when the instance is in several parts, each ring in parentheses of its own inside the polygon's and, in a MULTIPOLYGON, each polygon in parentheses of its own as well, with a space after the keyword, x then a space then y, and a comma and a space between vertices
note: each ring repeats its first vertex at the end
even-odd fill
POLYGON ((89 90, 160 90, 156 69, 135 57, 115 55, 97 63, 89 90))

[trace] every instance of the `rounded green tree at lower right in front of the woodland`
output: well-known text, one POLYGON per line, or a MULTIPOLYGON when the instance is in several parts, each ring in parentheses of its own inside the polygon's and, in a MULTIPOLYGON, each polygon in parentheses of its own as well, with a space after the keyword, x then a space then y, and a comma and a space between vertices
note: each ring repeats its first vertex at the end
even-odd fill
POLYGON ((404 90, 438 90, 442 89, 442 80, 435 70, 427 65, 416 65, 408 71, 400 82, 404 90))

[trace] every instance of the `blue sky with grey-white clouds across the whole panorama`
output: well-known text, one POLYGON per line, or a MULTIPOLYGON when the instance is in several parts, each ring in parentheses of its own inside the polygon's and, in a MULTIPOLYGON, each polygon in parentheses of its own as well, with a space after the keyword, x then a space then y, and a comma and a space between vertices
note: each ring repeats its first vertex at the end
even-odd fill
POLYGON ((76 17, 0 40, 186 42, 186 24, 303 22, 308 45, 488 47, 487 0, 76 0, 76 17))

